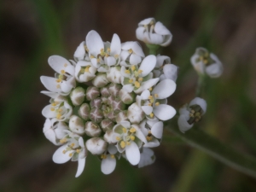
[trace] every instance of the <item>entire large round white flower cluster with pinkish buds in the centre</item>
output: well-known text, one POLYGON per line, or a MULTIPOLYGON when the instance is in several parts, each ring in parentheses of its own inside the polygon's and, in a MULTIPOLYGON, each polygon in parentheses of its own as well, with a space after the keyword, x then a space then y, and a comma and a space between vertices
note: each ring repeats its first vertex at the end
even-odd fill
POLYGON ((105 174, 120 157, 139 167, 154 162, 150 148, 160 145, 163 121, 176 114, 167 104, 177 79, 169 57, 145 56, 137 42, 121 44, 117 34, 103 42, 90 31, 74 61, 53 55, 48 62, 55 77, 41 77, 50 97, 42 113, 45 137, 61 146, 55 163, 78 161, 79 177, 88 154, 99 156, 105 174))

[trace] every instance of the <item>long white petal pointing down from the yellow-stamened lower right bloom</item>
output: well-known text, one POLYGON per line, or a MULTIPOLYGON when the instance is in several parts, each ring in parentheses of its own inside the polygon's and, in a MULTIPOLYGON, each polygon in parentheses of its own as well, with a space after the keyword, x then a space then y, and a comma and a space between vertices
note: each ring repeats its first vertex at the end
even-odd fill
POLYGON ((130 145, 126 145, 125 147, 125 154, 127 160, 131 163, 131 165, 135 166, 140 161, 140 150, 137 147, 137 144, 131 142, 130 145))

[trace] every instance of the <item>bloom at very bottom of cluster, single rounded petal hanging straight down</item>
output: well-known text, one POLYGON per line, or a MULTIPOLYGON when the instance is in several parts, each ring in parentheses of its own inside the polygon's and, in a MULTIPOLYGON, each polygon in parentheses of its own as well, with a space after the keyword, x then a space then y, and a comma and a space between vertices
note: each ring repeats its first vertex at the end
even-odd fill
POLYGON ((118 153, 117 148, 114 145, 109 144, 106 152, 101 155, 101 158, 102 158, 101 169, 104 174, 108 175, 111 172, 113 172, 113 170, 115 169, 116 159, 114 154, 116 153, 118 153))

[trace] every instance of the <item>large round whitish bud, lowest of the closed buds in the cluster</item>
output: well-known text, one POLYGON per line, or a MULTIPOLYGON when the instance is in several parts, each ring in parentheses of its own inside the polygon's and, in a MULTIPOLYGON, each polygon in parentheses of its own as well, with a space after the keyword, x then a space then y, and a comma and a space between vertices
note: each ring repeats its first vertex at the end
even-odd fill
POLYGON ((108 143, 99 137, 93 137, 85 143, 91 154, 102 154, 108 148, 108 143))

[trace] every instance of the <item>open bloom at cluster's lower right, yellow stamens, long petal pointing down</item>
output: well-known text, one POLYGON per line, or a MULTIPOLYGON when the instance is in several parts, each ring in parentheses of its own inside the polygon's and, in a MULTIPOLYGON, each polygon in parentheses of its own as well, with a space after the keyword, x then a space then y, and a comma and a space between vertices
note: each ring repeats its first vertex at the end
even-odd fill
POLYGON ((138 125, 131 125, 129 121, 121 121, 113 127, 113 142, 117 143, 119 153, 125 152, 127 160, 135 166, 140 161, 139 148, 147 143, 138 125))

